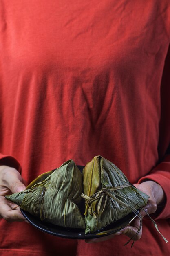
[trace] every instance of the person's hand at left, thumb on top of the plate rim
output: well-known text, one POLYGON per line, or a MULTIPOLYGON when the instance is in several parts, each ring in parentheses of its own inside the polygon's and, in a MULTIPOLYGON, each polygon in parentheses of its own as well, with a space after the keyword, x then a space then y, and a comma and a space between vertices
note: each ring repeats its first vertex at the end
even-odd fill
POLYGON ((25 189, 25 182, 15 168, 0 166, 0 218, 4 218, 7 222, 26 221, 19 206, 5 198, 5 195, 25 189))

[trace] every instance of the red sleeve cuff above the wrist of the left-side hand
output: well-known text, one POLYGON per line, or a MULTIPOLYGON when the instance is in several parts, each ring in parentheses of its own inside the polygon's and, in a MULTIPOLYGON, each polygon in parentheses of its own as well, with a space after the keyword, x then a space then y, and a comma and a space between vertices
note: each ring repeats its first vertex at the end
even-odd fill
POLYGON ((0 153, 0 165, 7 165, 21 172, 21 166, 18 160, 11 155, 3 155, 0 153))

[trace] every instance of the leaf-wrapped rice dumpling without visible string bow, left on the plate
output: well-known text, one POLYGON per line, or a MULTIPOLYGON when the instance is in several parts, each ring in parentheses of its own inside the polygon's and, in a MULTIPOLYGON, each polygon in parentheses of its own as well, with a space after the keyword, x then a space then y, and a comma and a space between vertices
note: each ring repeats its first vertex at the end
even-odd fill
POLYGON ((6 198, 42 221, 62 227, 85 228, 77 204, 81 201, 82 173, 73 160, 40 175, 25 191, 6 198))

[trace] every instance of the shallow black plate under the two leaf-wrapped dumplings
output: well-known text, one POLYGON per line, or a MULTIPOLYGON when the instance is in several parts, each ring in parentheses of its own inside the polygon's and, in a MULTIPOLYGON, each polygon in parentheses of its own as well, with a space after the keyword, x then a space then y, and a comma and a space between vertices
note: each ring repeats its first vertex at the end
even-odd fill
MULTIPOLYGON (((84 166, 78 166, 78 168, 80 171, 82 171, 84 166)), ((135 213, 130 213, 124 218, 122 218, 121 220, 118 220, 117 222, 114 222, 97 232, 85 235, 84 229, 65 228, 65 227, 60 227, 48 222, 42 222, 40 218, 33 216, 22 209, 20 210, 24 215, 24 217, 26 218, 26 220, 28 220, 31 225, 33 225, 35 228, 39 229, 40 231, 43 231, 53 236, 59 236, 62 238, 71 238, 71 239, 92 239, 92 238, 99 238, 102 236, 108 236, 108 235, 114 234, 115 232, 118 232, 119 230, 128 226, 137 216, 135 213), (107 234, 105 234, 106 231, 107 231, 107 234)))

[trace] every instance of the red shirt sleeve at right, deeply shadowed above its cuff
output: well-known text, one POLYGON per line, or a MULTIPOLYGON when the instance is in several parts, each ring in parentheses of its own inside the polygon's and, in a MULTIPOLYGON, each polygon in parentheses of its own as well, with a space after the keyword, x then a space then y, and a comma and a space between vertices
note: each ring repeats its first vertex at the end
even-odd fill
POLYGON ((142 177, 138 183, 144 180, 153 180, 161 185, 166 202, 163 210, 156 219, 170 218, 170 46, 168 48, 163 75, 161 80, 161 116, 159 123, 158 154, 159 164, 142 177), (168 147, 169 146, 169 147, 168 147), (167 150, 168 148, 168 150, 167 150), (167 154, 167 155, 166 155, 167 154))

